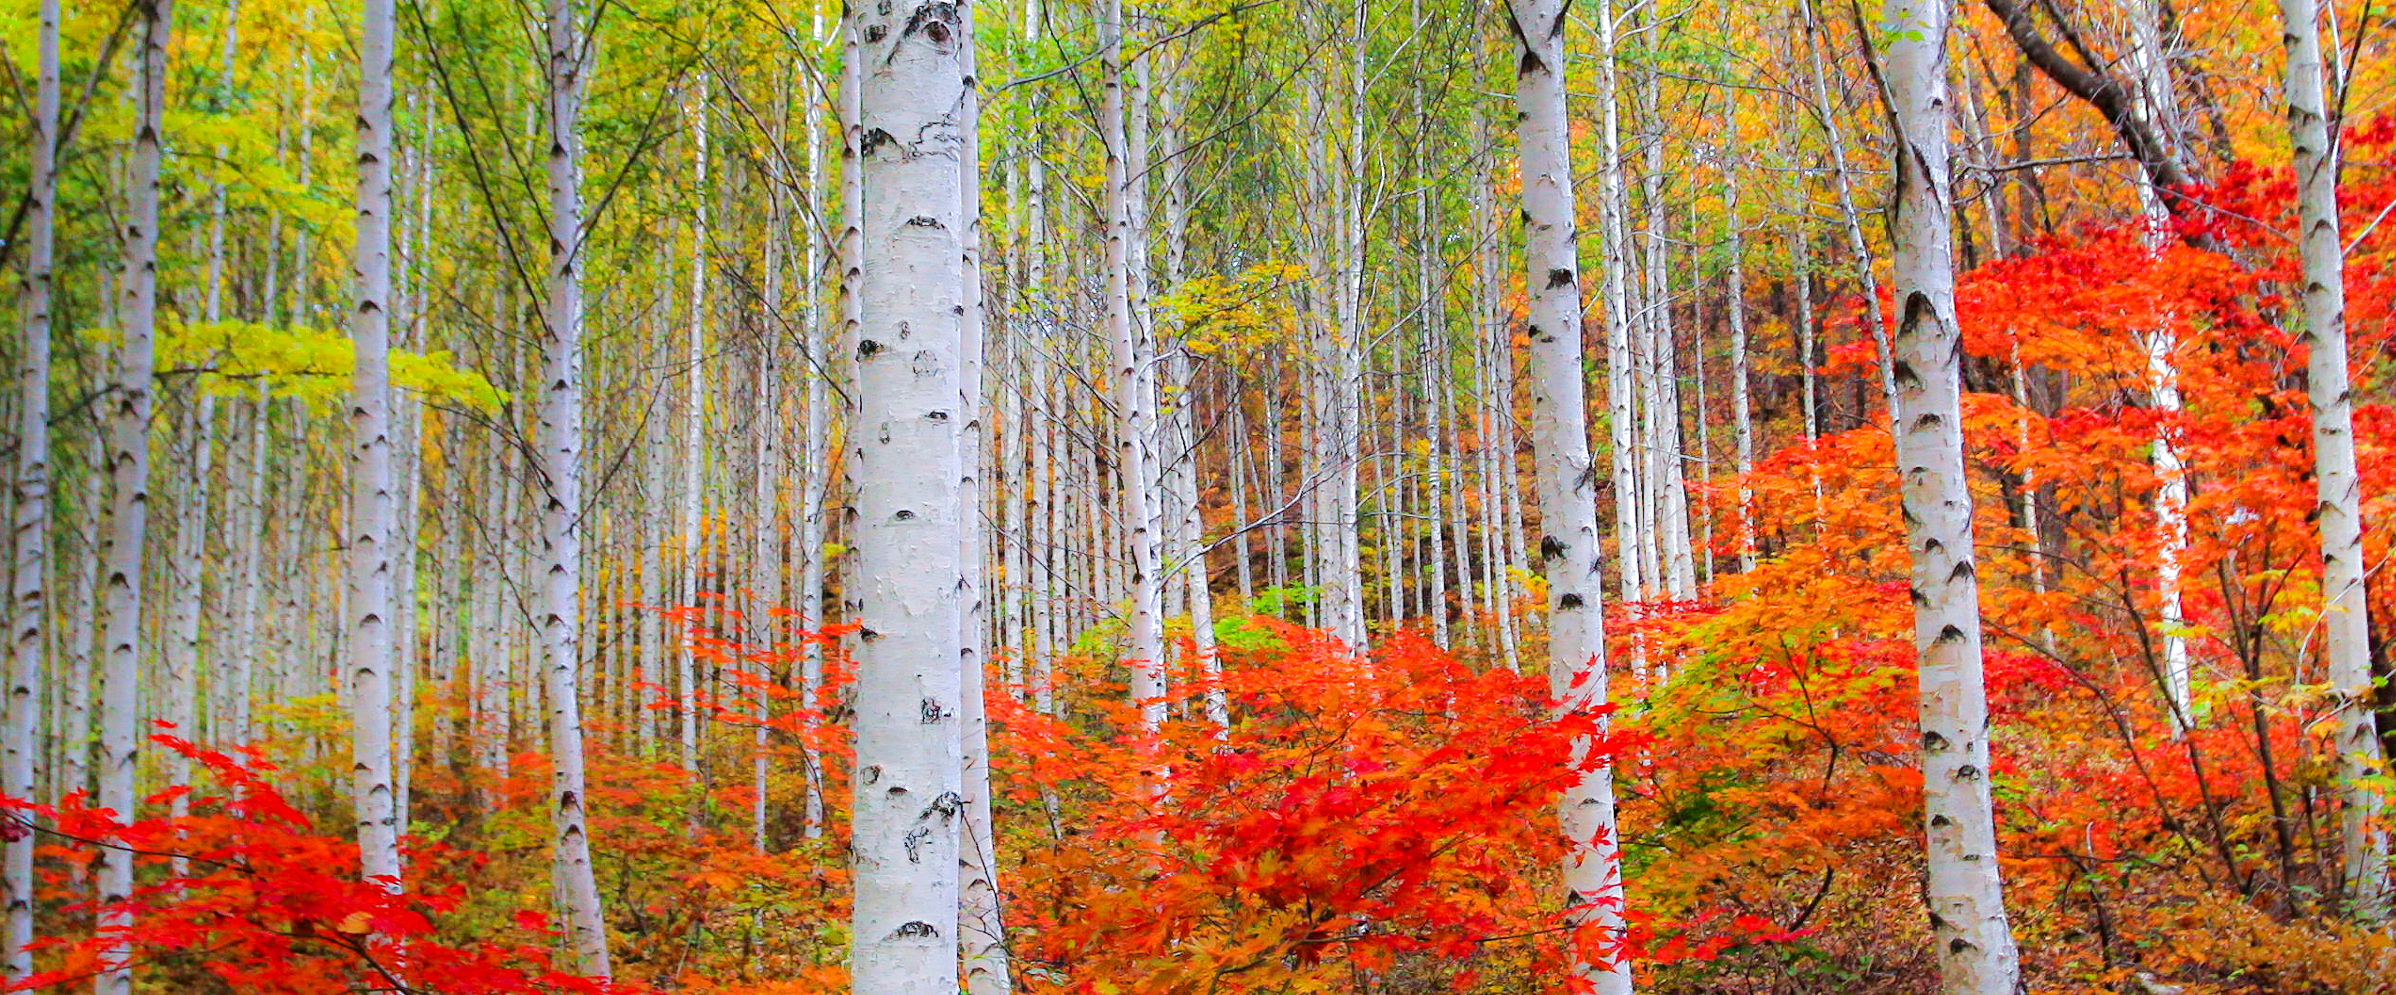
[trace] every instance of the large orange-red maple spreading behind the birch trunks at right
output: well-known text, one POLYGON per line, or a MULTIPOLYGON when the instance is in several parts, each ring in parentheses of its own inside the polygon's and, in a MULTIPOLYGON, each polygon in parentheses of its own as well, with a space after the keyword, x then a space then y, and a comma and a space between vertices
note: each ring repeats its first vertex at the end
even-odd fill
MULTIPOLYGON (((2372 153, 2343 187, 2370 563, 2396 523, 2382 362, 2396 273, 2374 225, 2396 199, 2391 139, 2389 120, 2348 132, 2372 153)), ((2087 225, 1958 283, 2005 906, 2032 990, 2389 993, 2396 940, 2343 921, 2322 803, 2334 700, 2298 264, 2279 235, 2295 228, 2293 182, 2238 165, 2188 197, 2219 211, 2161 240, 2087 225), (2156 328, 2176 343, 2178 412, 2149 400, 2142 336, 2156 328), (2032 405, 2008 384, 2015 362, 2032 405), (2156 436, 2190 489, 2171 633, 2156 436), (2192 659, 2185 719, 2166 698, 2166 635, 2192 659)), ((1862 312, 1840 309, 1831 364, 1869 381, 1862 312)), ((1716 477, 1716 554, 1737 554, 1744 515, 1759 566, 1613 623, 1665 674, 1617 719, 1658 743, 1620 765, 1632 901, 1802 933, 1656 966, 1651 990, 1934 990, 1910 563, 1878 417, 1716 477)), ((2396 611, 2384 571, 2367 595, 2374 621, 2396 611)))

